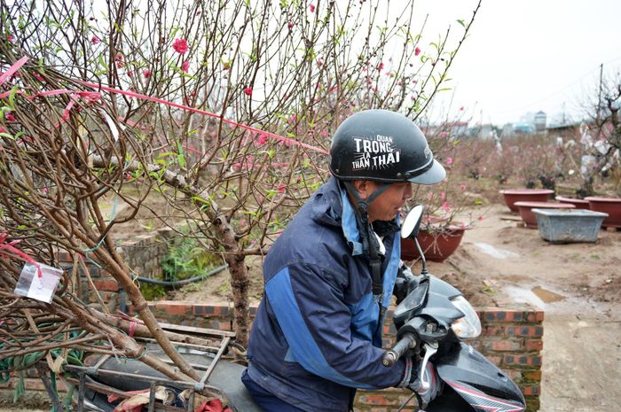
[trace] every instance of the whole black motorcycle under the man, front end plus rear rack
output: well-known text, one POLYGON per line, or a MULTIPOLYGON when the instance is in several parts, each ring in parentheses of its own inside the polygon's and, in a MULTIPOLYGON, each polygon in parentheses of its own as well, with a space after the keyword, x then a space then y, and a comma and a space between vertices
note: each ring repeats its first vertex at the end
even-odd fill
MULTIPOLYGON (((424 371, 429 361, 434 365, 443 382, 443 389, 428 405, 422 403, 420 395, 417 396, 421 410, 522 412, 525 401, 517 385, 483 354, 464 342, 464 339, 476 338, 481 333, 481 323, 474 308, 452 285, 428 274, 424 254, 416 241, 422 214, 423 206, 414 206, 401 228, 401 236, 412 238, 417 246, 422 269, 420 276, 411 276, 406 285, 405 298, 395 307, 397 343, 383 355, 382 364, 390 367, 404 354, 413 356, 421 370, 419 393, 429 389, 430 382, 426 380, 424 371)), ((193 331, 200 331, 200 328, 193 328, 193 331)), ((223 343, 215 349, 179 346, 179 353, 195 369, 205 370, 199 384, 172 382, 140 361, 118 360, 112 356, 97 356, 91 360, 90 367, 67 366, 68 371, 80 377, 78 411, 85 406, 86 410, 112 412, 115 404, 109 396, 111 393, 114 395, 114 388, 124 392, 148 390, 149 412, 161 408, 161 403, 154 402, 154 399, 157 389, 163 388, 163 398, 169 403, 166 410, 192 411, 196 408, 194 391, 208 385, 209 389, 222 393, 222 398, 233 412, 261 412, 240 381, 245 366, 220 359, 231 338, 226 338, 226 334, 231 332, 220 333, 224 337, 223 343)), ((162 360, 166 359, 157 346, 151 346, 149 351, 161 356, 162 360)), ((416 394, 413 393, 413 396, 416 394)), ((399 410, 405 408, 413 396, 399 410)))

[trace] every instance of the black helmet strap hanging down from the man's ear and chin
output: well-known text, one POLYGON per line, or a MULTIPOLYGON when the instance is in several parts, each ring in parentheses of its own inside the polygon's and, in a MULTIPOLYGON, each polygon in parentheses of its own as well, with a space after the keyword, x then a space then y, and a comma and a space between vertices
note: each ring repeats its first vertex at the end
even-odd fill
POLYGON ((356 200, 356 218, 358 227, 360 228, 360 237, 362 237, 362 245, 364 245, 369 256, 369 266, 371 267, 371 276, 373 281, 373 295, 379 296, 380 304, 383 298, 384 286, 381 282, 381 257, 380 244, 378 238, 373 233, 371 223, 369 223, 368 208, 375 198, 381 195, 384 190, 388 189, 389 183, 382 183, 381 186, 373 191, 371 196, 363 200, 358 194, 358 190, 350 181, 342 181, 345 190, 356 200))

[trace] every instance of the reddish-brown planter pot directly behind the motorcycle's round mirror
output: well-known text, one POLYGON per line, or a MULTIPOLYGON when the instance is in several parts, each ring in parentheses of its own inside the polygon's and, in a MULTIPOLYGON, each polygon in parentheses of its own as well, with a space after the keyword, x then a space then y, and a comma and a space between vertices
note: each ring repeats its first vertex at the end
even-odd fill
MULTIPOLYGON (((451 227, 448 230, 435 231, 421 229, 418 237, 425 259, 443 262, 454 253, 461 243, 466 229, 451 227)), ((401 239, 401 259, 415 260, 421 257, 411 239, 401 239)))

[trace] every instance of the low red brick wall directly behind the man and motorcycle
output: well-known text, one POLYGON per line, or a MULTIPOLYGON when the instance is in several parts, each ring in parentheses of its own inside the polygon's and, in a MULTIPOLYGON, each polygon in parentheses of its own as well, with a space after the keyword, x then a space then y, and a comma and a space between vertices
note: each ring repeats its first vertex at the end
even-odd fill
MULTIPOLYGON (((180 301, 158 301, 150 304, 155 317, 168 323, 192 325, 203 328, 232 330, 232 307, 210 306, 180 301)), ((250 309, 251 316, 256 308, 250 309)), ((543 349, 543 312, 523 309, 488 308, 479 311, 482 334, 471 344, 488 359, 507 372, 520 386, 527 403, 527 411, 539 408, 541 385, 541 350, 543 349)), ((385 347, 396 330, 387 316, 384 327, 385 347)), ((355 409, 358 412, 396 411, 408 398, 409 392, 389 389, 383 391, 358 391, 355 409)), ((404 411, 413 411, 405 408, 404 411)))

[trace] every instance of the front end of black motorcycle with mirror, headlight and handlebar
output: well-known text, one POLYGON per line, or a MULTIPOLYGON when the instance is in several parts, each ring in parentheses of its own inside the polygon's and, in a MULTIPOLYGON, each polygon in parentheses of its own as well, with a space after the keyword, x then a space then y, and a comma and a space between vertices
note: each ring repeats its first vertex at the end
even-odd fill
POLYGON ((444 385, 428 405, 421 404, 417 396, 419 408, 427 412, 522 412, 526 403, 515 382, 464 342, 481 334, 474 308, 452 285, 428 274, 416 240, 423 210, 421 205, 414 206, 401 228, 402 237, 413 239, 422 269, 420 276, 412 276, 405 299, 395 307, 397 343, 384 354, 382 364, 389 367, 404 354, 413 356, 421 365, 418 392, 425 393, 430 382, 424 371, 432 363, 444 385))

